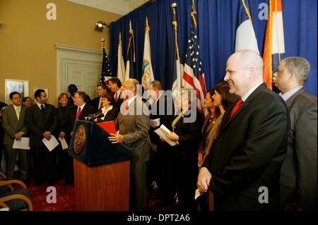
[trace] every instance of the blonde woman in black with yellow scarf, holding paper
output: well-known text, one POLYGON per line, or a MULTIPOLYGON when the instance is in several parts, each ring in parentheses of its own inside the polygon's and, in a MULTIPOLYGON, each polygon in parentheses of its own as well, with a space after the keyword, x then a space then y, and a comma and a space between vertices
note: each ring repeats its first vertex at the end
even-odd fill
MULTIPOLYGON (((179 207, 182 211, 196 211, 194 193, 198 174, 197 149, 200 140, 201 115, 196 112, 196 92, 180 90, 175 99, 177 114, 172 119, 167 138, 179 142, 179 145, 170 147, 172 158, 172 173, 175 188, 179 198, 179 207), (193 106, 193 107, 192 107, 193 106)), ((168 175, 167 175, 168 176, 168 175)))

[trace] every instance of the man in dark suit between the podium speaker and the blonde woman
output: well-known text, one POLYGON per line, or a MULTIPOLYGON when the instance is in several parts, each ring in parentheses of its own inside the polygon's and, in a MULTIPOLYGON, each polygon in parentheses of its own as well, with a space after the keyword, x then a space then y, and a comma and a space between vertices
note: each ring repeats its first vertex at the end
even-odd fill
MULTIPOLYGON (((154 132, 161 125, 170 128, 170 123, 174 117, 172 96, 165 95, 159 80, 153 80, 148 87, 151 94, 151 115, 150 115, 150 138, 153 158, 151 159, 151 178, 158 181, 158 193, 162 202, 158 206, 172 205, 175 202, 175 189, 171 185, 173 178, 169 176, 172 170, 170 145, 160 140, 154 132)), ((155 183, 157 184, 157 183, 155 183)), ((153 185, 155 185, 153 184, 153 185)))

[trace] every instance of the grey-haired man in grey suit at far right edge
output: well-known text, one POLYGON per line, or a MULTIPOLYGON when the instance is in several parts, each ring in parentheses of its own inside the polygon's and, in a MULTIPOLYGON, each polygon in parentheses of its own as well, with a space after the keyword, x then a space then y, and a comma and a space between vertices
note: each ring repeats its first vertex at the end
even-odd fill
POLYGON ((317 97, 303 89, 310 63, 283 59, 273 82, 290 114, 288 152, 281 169, 283 210, 317 210, 317 97))

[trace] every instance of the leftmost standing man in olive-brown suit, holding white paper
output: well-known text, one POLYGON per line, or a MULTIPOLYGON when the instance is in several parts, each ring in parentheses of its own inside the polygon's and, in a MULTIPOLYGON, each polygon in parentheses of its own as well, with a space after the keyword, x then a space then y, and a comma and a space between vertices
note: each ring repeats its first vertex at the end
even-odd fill
POLYGON ((14 167, 16 166, 16 154, 18 153, 20 159, 20 179, 28 184, 28 150, 13 149, 14 140, 20 140, 28 131, 25 125, 26 108, 21 104, 22 100, 19 92, 11 92, 9 96, 12 104, 2 112, 6 174, 9 179, 13 178, 14 167))

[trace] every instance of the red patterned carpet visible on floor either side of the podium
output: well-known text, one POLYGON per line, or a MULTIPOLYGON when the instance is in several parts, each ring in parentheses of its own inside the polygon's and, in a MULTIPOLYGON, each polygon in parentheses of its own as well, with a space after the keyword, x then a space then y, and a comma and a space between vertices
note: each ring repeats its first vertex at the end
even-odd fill
MULTIPOLYGON (((36 187, 35 182, 31 179, 31 183, 28 185, 28 190, 32 198, 33 209, 35 211, 74 211, 75 206, 75 193, 74 185, 62 186, 63 180, 59 180, 54 183, 54 187, 57 188, 57 203, 47 203, 47 183, 43 183, 42 186, 36 187)), ((156 198, 156 191, 153 190, 151 194, 151 200, 149 200, 148 211, 176 211, 177 205, 170 207, 156 207, 156 203, 159 200, 156 198)))

